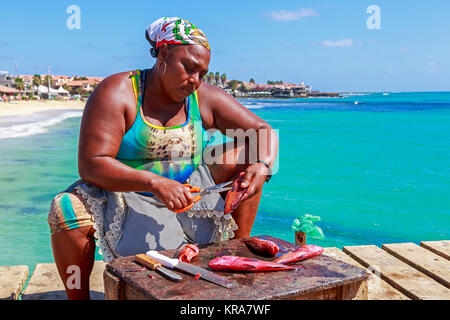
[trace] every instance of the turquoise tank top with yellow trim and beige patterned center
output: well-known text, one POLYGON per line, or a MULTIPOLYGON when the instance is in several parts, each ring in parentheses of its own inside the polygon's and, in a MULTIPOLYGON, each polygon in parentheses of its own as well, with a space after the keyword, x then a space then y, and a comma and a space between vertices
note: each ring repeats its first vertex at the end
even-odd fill
POLYGON ((186 122, 173 127, 149 123, 143 114, 143 97, 147 70, 131 73, 137 100, 137 115, 126 132, 116 159, 139 170, 186 182, 201 162, 204 128, 197 92, 186 98, 186 122))

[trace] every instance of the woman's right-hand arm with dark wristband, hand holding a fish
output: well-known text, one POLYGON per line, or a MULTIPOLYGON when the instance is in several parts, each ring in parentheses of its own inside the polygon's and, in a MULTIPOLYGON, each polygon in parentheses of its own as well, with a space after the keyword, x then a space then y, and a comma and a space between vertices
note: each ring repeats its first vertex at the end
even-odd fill
POLYGON ((256 114, 241 105, 220 88, 203 83, 199 89, 202 119, 206 128, 216 128, 233 139, 249 141, 249 162, 242 187, 249 186, 245 198, 256 194, 265 182, 268 168, 273 167, 278 153, 278 136, 272 127, 256 114))

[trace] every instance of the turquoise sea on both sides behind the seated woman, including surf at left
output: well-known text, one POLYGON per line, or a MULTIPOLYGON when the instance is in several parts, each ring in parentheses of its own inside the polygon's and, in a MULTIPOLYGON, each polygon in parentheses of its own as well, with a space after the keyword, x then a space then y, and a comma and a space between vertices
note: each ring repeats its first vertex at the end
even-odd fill
MULTIPOLYGON (((450 92, 240 101, 280 137, 252 235, 293 242, 309 213, 325 247, 450 239, 450 92)), ((0 265, 53 262, 47 211, 78 179, 80 120, 0 119, 0 265)))

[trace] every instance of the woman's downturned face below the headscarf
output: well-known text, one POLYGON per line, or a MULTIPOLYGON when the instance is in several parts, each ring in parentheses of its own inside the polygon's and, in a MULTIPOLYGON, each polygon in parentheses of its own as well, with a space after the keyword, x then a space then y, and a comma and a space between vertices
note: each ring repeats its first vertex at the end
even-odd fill
POLYGON ((174 45, 160 50, 158 58, 162 58, 167 66, 161 77, 164 90, 172 100, 183 101, 202 84, 208 73, 211 53, 199 45, 174 45))

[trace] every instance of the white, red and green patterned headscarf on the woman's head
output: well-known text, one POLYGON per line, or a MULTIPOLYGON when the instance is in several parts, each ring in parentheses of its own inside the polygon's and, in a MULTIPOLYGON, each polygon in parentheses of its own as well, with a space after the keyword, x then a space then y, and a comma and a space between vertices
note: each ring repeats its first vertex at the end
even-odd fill
POLYGON ((187 20, 173 17, 160 18, 147 27, 147 40, 152 45, 152 56, 156 58, 161 44, 198 44, 211 50, 202 30, 187 20))

